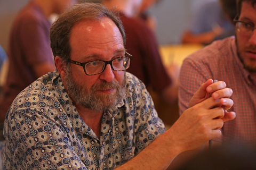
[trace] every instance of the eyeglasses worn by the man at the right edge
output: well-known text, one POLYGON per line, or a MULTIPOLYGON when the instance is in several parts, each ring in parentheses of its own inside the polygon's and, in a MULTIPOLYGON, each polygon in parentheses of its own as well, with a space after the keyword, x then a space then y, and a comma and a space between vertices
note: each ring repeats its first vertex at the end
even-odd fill
POLYGON ((236 30, 246 36, 251 36, 253 30, 256 28, 255 24, 239 21, 238 18, 239 16, 236 15, 235 19, 233 20, 233 22, 236 24, 236 30))

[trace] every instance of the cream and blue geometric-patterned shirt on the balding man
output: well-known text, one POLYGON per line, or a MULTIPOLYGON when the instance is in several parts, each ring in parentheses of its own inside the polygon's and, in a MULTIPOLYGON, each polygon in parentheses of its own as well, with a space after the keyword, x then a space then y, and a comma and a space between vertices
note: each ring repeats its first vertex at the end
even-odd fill
POLYGON ((114 169, 164 131, 145 85, 126 72, 126 94, 103 112, 100 139, 79 116, 57 70, 15 98, 4 124, 3 169, 114 169))

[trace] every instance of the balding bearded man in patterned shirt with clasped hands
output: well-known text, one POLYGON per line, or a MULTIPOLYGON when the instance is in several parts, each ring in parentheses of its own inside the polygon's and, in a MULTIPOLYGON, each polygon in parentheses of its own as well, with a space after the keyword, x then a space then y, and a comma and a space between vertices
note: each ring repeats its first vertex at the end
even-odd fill
POLYGON ((235 118, 218 107, 233 106, 232 91, 210 79, 165 132, 145 85, 125 72, 132 56, 122 23, 101 4, 63 12, 50 39, 57 69, 21 91, 7 112, 3 169, 165 169, 235 118), (200 98, 207 87, 219 97, 200 98))

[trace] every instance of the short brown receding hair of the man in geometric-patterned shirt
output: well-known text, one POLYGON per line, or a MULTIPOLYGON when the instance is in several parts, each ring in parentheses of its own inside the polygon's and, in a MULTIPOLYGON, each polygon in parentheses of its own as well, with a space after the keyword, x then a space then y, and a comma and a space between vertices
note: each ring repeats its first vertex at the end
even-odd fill
POLYGON ((51 48, 54 57, 59 56, 63 62, 68 62, 71 53, 70 34, 75 24, 82 20, 100 20, 108 17, 118 27, 125 45, 125 33, 122 21, 117 13, 100 3, 78 3, 64 10, 50 29, 51 48))

